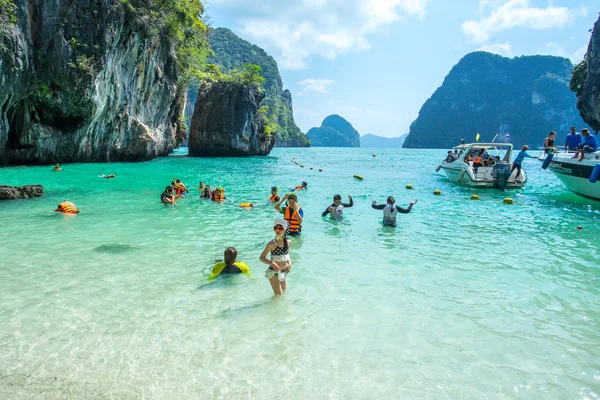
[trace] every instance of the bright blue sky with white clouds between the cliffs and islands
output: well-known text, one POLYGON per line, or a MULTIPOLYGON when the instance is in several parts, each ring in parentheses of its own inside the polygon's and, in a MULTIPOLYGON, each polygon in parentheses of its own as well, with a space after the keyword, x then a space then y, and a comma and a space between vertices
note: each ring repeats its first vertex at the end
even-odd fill
POLYGON ((206 0, 214 27, 272 55, 306 132, 330 114, 399 136, 467 53, 579 62, 600 4, 581 0, 206 0))

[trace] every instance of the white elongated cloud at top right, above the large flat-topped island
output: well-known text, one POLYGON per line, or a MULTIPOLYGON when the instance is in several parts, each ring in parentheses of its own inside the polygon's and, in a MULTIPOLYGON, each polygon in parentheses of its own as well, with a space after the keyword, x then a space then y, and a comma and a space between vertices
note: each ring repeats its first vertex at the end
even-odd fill
MULTIPOLYGON (((489 0, 482 0, 480 11, 483 11, 489 3, 489 0)), ((471 42, 485 43, 493 34, 506 29, 515 27, 556 28, 568 24, 575 16, 586 13, 587 9, 584 7, 579 11, 552 5, 539 8, 531 7, 529 0, 508 0, 497 5, 488 16, 481 17, 479 21, 465 21, 461 27, 471 42)))

